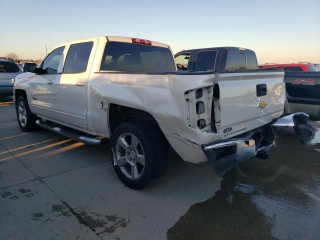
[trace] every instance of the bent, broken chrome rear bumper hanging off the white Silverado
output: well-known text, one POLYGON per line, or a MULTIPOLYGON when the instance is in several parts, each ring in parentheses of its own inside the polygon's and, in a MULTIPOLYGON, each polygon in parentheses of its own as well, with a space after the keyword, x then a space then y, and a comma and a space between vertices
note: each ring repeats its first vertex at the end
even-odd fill
POLYGON ((283 115, 249 132, 201 147, 218 176, 223 176, 238 162, 253 157, 267 159, 269 150, 275 145, 274 139, 279 135, 296 134, 302 143, 307 143, 314 136, 308 120, 309 116, 304 112, 283 115))

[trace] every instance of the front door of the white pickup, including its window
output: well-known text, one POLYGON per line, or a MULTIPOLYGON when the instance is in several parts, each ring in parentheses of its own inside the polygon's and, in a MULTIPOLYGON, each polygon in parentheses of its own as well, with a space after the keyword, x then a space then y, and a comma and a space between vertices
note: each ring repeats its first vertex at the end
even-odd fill
POLYGON ((54 83, 63 50, 64 46, 60 46, 51 51, 41 64, 41 73, 34 74, 29 79, 31 108, 35 114, 55 118, 54 83))

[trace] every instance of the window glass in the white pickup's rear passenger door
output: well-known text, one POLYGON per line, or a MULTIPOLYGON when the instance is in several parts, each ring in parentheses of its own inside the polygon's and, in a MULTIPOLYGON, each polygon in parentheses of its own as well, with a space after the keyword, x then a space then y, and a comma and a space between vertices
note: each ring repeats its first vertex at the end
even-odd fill
POLYGON ((93 41, 71 44, 66 54, 63 72, 84 72, 88 64, 93 41))

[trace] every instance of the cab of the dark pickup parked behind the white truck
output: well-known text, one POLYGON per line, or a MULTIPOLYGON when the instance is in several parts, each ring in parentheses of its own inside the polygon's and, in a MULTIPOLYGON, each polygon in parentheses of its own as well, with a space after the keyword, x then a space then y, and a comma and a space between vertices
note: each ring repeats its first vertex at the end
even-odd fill
POLYGON ((174 55, 178 70, 233 71, 258 68, 254 51, 242 47, 210 47, 179 51, 174 55))

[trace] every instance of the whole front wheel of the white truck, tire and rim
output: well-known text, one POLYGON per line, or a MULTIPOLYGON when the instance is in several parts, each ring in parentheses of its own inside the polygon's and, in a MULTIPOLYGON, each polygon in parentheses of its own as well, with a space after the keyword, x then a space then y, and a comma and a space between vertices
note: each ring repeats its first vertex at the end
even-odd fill
POLYGON ((25 96, 19 96, 15 104, 16 117, 22 131, 32 131, 36 128, 35 116, 30 111, 25 96))

